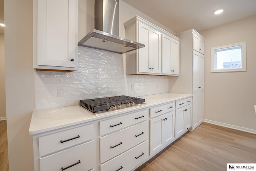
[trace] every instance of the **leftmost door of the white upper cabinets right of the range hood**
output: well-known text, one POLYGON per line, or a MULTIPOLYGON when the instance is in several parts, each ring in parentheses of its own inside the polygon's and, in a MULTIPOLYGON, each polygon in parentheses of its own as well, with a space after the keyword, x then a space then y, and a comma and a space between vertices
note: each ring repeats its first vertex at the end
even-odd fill
POLYGON ((148 72, 150 73, 151 70, 151 60, 150 60, 150 44, 151 44, 151 28, 145 24, 138 23, 138 42, 144 44, 144 48, 140 48, 139 51, 139 58, 138 58, 138 72, 148 72))

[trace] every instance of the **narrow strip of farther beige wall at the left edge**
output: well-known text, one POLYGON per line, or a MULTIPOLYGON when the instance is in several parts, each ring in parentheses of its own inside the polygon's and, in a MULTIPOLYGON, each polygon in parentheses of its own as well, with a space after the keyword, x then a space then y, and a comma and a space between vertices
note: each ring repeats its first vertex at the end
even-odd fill
POLYGON ((0 34, 0 120, 6 119, 4 73, 4 34, 0 34))

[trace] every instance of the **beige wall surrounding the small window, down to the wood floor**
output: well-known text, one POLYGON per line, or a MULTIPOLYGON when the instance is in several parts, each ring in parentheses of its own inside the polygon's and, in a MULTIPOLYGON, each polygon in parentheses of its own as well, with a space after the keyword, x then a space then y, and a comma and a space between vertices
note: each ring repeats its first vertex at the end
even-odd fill
POLYGON ((205 40, 204 118, 256 133, 256 16, 200 32, 205 40), (210 73, 210 48, 247 42, 247 71, 210 73))

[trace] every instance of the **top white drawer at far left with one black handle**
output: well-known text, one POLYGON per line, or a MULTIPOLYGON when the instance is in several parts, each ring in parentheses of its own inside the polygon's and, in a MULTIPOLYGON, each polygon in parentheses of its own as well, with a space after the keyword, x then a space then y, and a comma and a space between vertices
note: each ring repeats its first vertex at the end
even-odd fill
POLYGON ((38 137, 40 156, 59 151, 67 147, 88 141, 94 138, 94 124, 84 125, 65 131, 38 137))

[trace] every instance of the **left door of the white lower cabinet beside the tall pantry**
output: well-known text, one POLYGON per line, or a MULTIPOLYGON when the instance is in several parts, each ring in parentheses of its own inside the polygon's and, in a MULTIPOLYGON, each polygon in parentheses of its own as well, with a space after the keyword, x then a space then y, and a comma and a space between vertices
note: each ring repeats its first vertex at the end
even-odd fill
POLYGON ((175 137, 180 137, 184 133, 183 107, 176 109, 175 113, 175 137))

